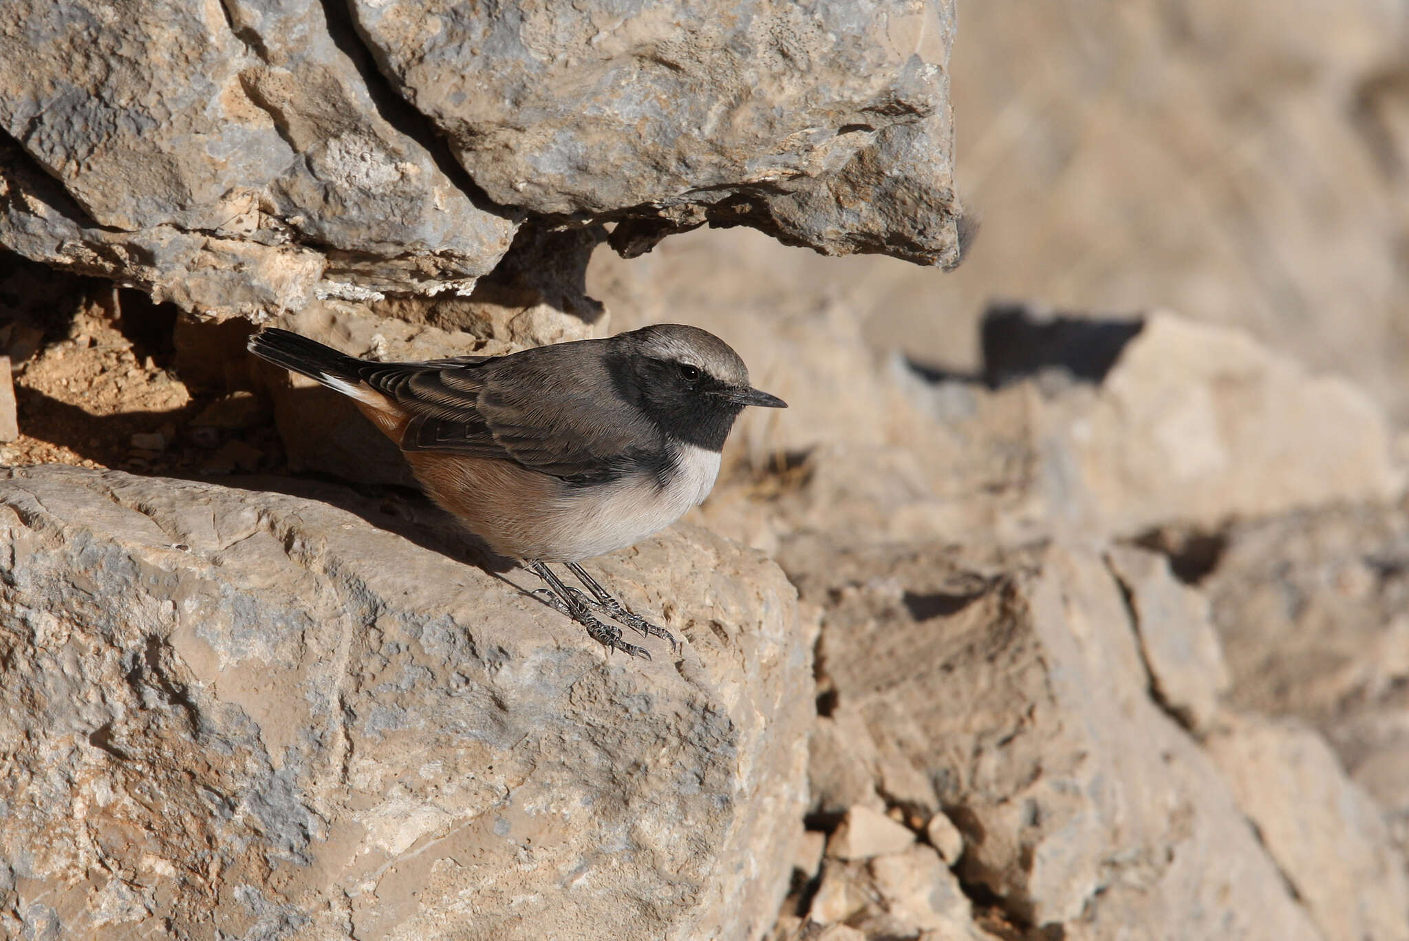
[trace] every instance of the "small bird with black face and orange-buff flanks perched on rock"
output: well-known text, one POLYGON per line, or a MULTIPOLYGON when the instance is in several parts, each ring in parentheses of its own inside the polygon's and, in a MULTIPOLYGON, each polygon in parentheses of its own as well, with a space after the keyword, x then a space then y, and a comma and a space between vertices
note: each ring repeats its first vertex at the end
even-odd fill
POLYGON ((375 363, 266 329, 249 351, 351 396, 396 442, 426 492, 492 550, 523 560, 554 608, 609 649, 650 659, 607 615, 675 638, 613 598, 583 559, 665 529, 709 495, 748 384, 713 333, 661 323, 510 356, 375 363), (548 567, 561 561, 590 598, 548 567))

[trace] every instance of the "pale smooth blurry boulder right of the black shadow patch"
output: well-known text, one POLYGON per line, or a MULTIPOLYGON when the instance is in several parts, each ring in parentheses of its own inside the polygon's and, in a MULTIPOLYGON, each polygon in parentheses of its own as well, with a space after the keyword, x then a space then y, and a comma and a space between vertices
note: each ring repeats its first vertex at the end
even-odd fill
POLYGON ((1172 313, 1148 316, 1099 389, 1062 396, 1036 432, 1060 437, 1048 461, 1074 478, 1048 477, 1050 505, 1085 504, 1081 525, 1096 532, 1213 526, 1403 485, 1385 416, 1364 391, 1240 330, 1172 313))

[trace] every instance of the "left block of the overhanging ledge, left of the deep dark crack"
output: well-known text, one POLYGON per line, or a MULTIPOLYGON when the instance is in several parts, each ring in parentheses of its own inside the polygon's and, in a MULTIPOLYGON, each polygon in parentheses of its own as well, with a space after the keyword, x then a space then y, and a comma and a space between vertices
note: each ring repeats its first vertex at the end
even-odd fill
POLYGON ((314 291, 468 291, 516 221, 476 207, 420 134, 400 130, 409 109, 383 111, 344 47, 365 51, 325 10, 337 6, 6 4, 0 128, 72 202, 35 196, 11 155, 0 238, 217 313, 294 308, 314 291), (221 248, 259 261, 217 285, 165 289, 176 275, 200 281, 221 248), (85 267, 85 251, 111 271, 85 267), (297 274, 261 269, 287 254, 297 274), (224 282, 245 291, 221 300, 224 282))

